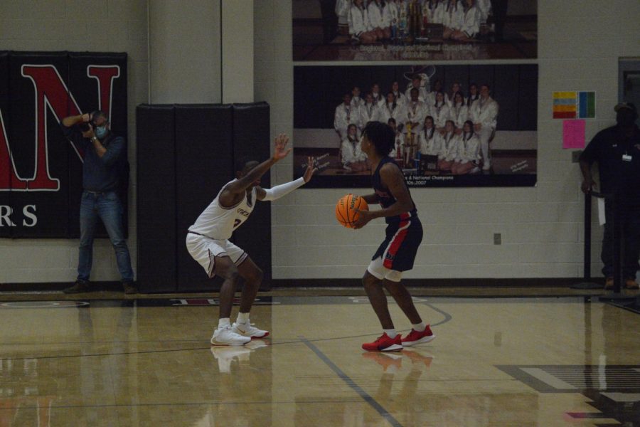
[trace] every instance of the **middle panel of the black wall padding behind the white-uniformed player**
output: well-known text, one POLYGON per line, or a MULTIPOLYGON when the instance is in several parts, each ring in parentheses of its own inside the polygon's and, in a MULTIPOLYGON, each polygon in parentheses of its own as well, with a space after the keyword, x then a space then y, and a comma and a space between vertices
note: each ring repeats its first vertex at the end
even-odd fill
POLYGON ((176 105, 178 290, 216 290, 220 280, 186 250, 187 229, 233 179, 231 105, 176 105))

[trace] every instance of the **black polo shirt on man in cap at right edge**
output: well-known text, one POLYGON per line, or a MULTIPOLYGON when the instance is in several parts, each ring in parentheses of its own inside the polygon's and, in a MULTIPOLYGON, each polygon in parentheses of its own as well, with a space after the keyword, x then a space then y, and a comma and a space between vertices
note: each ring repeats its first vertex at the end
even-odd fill
POLYGON ((640 129, 625 137, 618 126, 598 132, 580 155, 580 161, 597 162, 600 191, 640 199, 640 129), (630 157, 630 158, 629 158, 630 157))

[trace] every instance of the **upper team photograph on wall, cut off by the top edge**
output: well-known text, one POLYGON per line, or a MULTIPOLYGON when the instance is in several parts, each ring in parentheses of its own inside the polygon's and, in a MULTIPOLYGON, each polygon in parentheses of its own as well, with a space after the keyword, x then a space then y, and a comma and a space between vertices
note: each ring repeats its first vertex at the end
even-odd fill
POLYGON ((537 0, 292 0, 294 61, 538 57, 537 0))

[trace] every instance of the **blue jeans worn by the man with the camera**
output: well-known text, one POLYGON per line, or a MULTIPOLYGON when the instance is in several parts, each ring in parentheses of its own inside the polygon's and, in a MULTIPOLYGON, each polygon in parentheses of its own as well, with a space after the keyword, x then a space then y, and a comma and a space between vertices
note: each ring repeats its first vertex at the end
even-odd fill
POLYGON ((78 280, 89 280, 93 261, 93 238, 98 218, 105 224, 123 282, 133 280, 131 258, 122 226, 122 204, 115 191, 92 193, 82 191, 80 202, 80 251, 78 253, 78 280))

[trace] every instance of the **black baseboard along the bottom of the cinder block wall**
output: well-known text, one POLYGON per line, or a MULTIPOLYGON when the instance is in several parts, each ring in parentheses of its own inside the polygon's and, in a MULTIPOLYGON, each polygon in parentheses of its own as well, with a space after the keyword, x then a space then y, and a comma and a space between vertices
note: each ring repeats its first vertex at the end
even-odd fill
MULTIPOLYGON (((592 279, 604 284, 604 278, 592 279)), ((583 278, 511 278, 511 279, 405 279, 402 283, 410 288, 569 288, 583 278)), ((73 282, 53 283, 0 283, 0 292, 42 292, 63 290, 73 282)), ((361 279, 272 279, 271 288, 361 288, 361 279)), ((120 282, 91 282, 92 290, 122 291, 120 282)), ((207 292, 200 290, 193 292, 207 292)), ((178 292, 176 290, 176 292, 178 292)), ((169 293, 169 292, 167 292, 169 293)), ((185 293, 185 292, 180 292, 185 293)))

